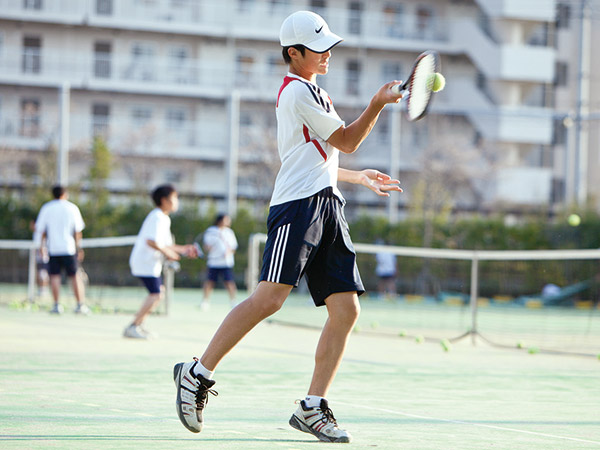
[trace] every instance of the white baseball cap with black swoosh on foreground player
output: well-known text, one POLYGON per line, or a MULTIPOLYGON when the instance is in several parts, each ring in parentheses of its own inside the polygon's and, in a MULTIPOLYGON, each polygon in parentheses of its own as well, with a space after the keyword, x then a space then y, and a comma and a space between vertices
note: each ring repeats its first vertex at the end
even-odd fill
POLYGON ((304 45, 315 53, 325 53, 343 39, 329 30, 321 16, 311 11, 297 11, 281 24, 279 42, 283 47, 304 45))

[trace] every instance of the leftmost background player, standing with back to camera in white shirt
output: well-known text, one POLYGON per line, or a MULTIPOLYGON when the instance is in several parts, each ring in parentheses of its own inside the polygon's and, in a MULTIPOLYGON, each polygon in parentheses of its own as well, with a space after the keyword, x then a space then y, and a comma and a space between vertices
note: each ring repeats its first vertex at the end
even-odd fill
POLYGON ((40 252, 48 251, 48 274, 50 289, 54 299, 51 313, 60 314, 63 307, 59 303, 61 272, 64 271, 71 279, 73 293, 77 300, 75 312, 88 314, 85 305, 85 288, 77 268, 78 262, 83 261, 83 250, 80 248, 82 231, 85 228, 79 208, 68 201, 69 194, 62 186, 52 188, 54 200, 45 203, 35 221, 34 241, 40 252), (44 248, 44 243, 45 247, 44 248))

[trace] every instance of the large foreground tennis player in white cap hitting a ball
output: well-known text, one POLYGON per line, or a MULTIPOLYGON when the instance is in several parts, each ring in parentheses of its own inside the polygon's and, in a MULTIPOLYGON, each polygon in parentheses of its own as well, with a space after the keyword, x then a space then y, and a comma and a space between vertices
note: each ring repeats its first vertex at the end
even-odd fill
POLYGON ((260 282, 254 293, 224 319, 200 360, 174 367, 177 413, 190 431, 202 430, 202 412, 221 359, 266 317, 282 306, 302 275, 316 306, 325 306, 328 320, 316 350, 308 395, 289 423, 322 441, 350 442, 338 427, 326 399, 348 336, 358 318, 358 296, 364 292, 356 254, 344 217, 338 180, 362 184, 378 195, 401 191, 399 181, 377 170, 353 171, 338 166, 339 152, 353 153, 368 136, 387 103, 400 96, 382 86, 349 126, 331 99, 316 84, 329 69, 331 49, 342 38, 309 11, 283 22, 280 42, 289 65, 277 98, 278 148, 281 169, 269 210, 268 237, 260 282))

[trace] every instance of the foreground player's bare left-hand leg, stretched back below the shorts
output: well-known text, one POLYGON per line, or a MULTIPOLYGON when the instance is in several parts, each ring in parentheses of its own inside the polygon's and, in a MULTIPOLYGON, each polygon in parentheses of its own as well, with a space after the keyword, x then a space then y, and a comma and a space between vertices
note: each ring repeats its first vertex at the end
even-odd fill
POLYGON ((274 314, 292 290, 287 284, 261 281, 250 297, 233 308, 208 344, 200 362, 215 370, 223 357, 263 319, 274 314))

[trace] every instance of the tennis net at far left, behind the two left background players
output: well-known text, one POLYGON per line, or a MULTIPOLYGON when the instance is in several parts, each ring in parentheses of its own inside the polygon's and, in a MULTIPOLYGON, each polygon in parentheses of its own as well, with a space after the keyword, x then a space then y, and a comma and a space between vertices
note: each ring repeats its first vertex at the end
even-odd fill
MULTIPOLYGON (((84 281, 86 302, 93 312, 133 313, 140 307, 147 293, 129 268, 135 239, 136 236, 82 239, 85 258, 79 265, 79 274, 84 281)), ((33 241, 0 240, 0 305, 33 310, 51 308, 49 284, 38 278, 41 262, 33 241)), ((177 262, 164 265, 165 301, 158 305, 156 314, 168 314, 178 269, 177 262)), ((61 303, 69 302, 75 304, 70 285, 63 283, 61 303)))

